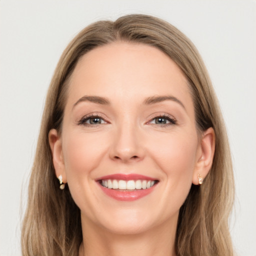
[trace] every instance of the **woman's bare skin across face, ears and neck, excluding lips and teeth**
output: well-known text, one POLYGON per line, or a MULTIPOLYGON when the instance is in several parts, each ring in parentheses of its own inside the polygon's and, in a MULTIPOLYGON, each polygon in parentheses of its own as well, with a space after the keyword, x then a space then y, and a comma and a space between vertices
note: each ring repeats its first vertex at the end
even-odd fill
POLYGON ((81 210, 80 255, 175 255, 178 211, 191 184, 198 184, 197 174, 205 177, 210 169, 214 131, 198 137, 187 81, 167 55, 125 42, 86 53, 71 77, 62 132, 50 130, 49 143, 56 176, 68 183, 81 210), (145 104, 155 96, 181 103, 145 104), (100 116, 100 123, 81 123, 88 115, 100 116), (175 123, 155 123, 159 116, 175 123), (138 200, 118 201, 96 182, 114 173, 146 175, 158 183, 138 200))

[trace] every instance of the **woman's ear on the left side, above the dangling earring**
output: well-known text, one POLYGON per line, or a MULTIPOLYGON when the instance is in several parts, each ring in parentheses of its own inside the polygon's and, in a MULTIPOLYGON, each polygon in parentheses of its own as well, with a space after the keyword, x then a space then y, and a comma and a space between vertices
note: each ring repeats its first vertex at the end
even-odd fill
POLYGON ((62 140, 56 129, 51 129, 49 131, 48 140, 56 177, 62 175, 63 183, 66 183, 66 172, 62 153, 62 140))

